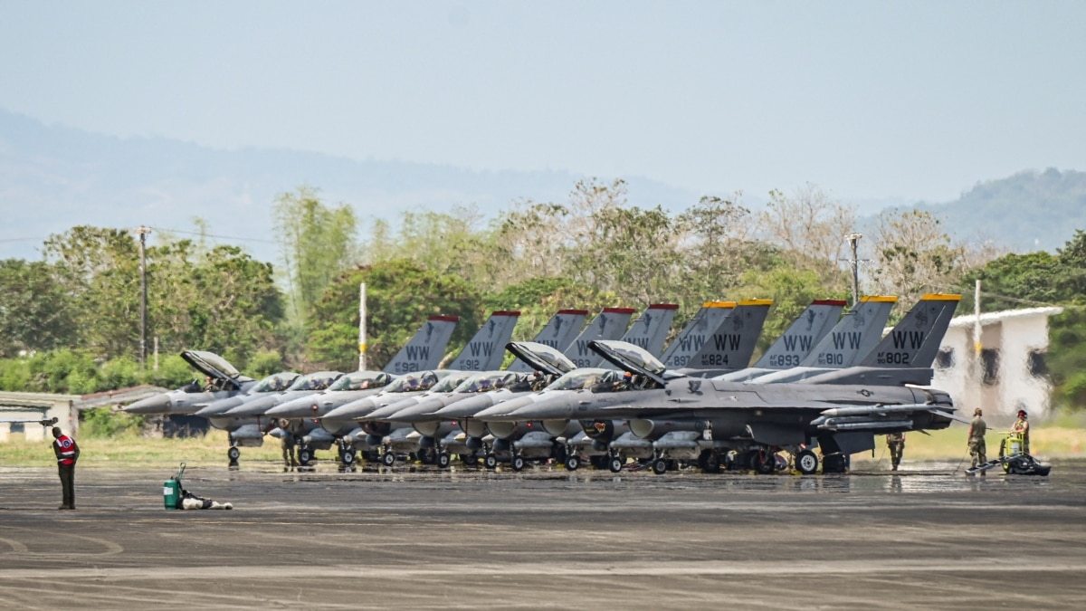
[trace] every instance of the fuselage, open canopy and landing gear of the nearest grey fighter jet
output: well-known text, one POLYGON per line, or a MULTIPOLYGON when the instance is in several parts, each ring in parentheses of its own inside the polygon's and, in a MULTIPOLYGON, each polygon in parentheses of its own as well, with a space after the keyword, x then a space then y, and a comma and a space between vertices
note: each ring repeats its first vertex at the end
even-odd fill
MULTIPOLYGON (((649 388, 616 392, 614 387, 596 385, 580 390, 574 400, 536 401, 506 419, 578 421, 584 429, 594 428, 597 422, 627 420, 630 429, 645 438, 682 429, 691 435, 685 445, 669 448, 673 458, 711 463, 732 451, 763 473, 776 469, 774 453, 780 449, 795 457, 800 472, 813 473, 819 458, 810 448, 817 444, 826 461, 823 470, 838 471, 848 454, 873 449, 876 433, 938 429, 952 420, 964 422, 942 390, 696 378, 667 371, 636 346, 594 341, 590 347, 623 371, 644 376, 649 388), (602 401, 607 395, 624 396, 602 401)), ((666 458, 656 457, 654 472, 667 469, 666 458)))

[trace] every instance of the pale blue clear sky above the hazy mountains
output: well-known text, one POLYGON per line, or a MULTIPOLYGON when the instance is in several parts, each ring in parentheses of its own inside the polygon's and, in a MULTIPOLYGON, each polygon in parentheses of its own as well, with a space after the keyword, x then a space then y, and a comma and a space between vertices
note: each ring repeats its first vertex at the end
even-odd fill
POLYGON ((0 108, 213 148, 948 201, 1086 170, 1086 2, 0 0, 0 108))

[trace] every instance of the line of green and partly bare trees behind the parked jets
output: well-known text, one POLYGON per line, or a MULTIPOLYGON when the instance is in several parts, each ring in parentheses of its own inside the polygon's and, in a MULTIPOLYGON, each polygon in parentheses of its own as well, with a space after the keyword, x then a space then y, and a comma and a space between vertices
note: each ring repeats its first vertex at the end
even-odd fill
MULTIPOLYGON (((434 314, 460 317, 454 353, 494 309, 520 310, 515 337, 527 339, 561 308, 674 302, 682 320, 708 300, 771 298, 768 345, 810 300, 850 298, 853 289, 845 236, 856 229, 856 211, 812 185, 772 191, 757 212, 741 192, 673 212, 630 205, 622 180, 590 179, 564 201, 520 200, 492 219, 470 205, 417 211, 364 233, 354 208, 301 186, 280 195, 272 214, 276 262, 205 237, 154 234, 146 260, 157 370, 138 364, 136 234, 77 226, 46 240, 42 261, 0 261, 0 388, 169 386, 192 375, 176 357, 182 349, 217 352, 253 376, 353 371, 361 283, 371 367, 434 314)), ((981 278, 997 296, 1072 306, 1053 321, 1051 375, 1066 404, 1086 402, 1072 339, 1086 324, 1074 307, 1086 282, 1081 232, 1057 254, 1007 254, 956 242, 927 212, 886 211, 866 230, 861 258, 861 292, 896 295, 904 304, 952 291, 965 296, 965 308, 981 278)), ((982 304, 1014 307, 1001 298, 982 304)))

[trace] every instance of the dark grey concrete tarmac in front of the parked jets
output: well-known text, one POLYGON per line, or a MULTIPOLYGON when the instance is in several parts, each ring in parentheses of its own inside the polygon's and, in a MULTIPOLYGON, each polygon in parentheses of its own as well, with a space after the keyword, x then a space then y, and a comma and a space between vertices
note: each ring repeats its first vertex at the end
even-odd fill
POLYGON ((0 467, 7 609, 1082 609, 1086 461, 1048 477, 0 467))

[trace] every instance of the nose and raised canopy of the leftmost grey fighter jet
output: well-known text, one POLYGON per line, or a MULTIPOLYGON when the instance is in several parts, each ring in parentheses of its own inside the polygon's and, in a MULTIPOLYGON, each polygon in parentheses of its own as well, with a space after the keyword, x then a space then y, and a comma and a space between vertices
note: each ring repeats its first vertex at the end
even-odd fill
POLYGON ((212 401, 240 395, 256 384, 214 352, 186 350, 181 352, 181 358, 204 374, 207 382, 201 384, 193 379, 177 390, 136 401, 124 411, 131 414, 191 414, 212 401))

